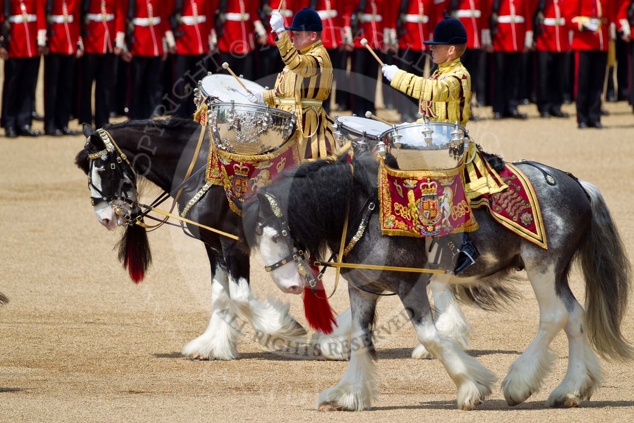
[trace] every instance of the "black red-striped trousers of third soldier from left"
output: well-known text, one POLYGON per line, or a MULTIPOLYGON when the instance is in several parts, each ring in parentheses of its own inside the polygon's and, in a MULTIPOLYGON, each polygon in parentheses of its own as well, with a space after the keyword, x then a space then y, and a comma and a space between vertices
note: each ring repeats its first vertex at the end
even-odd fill
POLYGON ((115 60, 117 56, 112 53, 86 53, 79 60, 79 123, 93 124, 94 81, 94 124, 96 128, 108 124, 110 101, 115 92, 115 60))

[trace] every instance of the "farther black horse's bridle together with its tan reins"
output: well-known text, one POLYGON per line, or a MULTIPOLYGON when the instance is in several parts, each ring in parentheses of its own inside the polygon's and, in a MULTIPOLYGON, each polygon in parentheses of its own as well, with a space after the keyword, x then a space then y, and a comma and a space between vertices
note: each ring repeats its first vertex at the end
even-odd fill
MULTIPOLYGON (((88 171, 88 185, 89 188, 92 186, 96 192, 100 193, 101 197, 91 197, 91 204, 92 205, 96 205, 96 204, 100 204, 101 202, 104 201, 108 201, 110 202, 110 205, 112 206, 112 208, 115 210, 115 213, 119 216, 123 216, 124 220, 126 221, 124 223, 124 225, 139 225, 142 226, 143 228, 150 229, 150 230, 155 230, 157 228, 159 228, 160 226, 164 225, 167 222, 167 219, 169 218, 173 218, 173 219, 177 219, 181 222, 184 223, 188 223, 190 225, 194 225, 194 226, 198 226, 200 228, 218 233, 219 235, 223 235, 224 237, 228 237, 228 238, 232 238, 235 240, 239 240, 239 237, 236 237, 235 235, 231 235, 230 233, 226 233, 223 232, 221 230, 217 230, 215 228, 211 228, 210 226, 206 226, 206 225, 201 225, 200 223, 197 223, 195 221, 192 221, 190 219, 185 219, 185 218, 181 218, 181 216, 176 216, 175 214, 172 214, 171 212, 174 210, 174 206, 176 205, 176 201, 178 200, 178 198, 180 197, 181 193, 183 192, 184 186, 188 185, 191 181, 191 179, 193 179, 195 176, 197 176, 200 172, 202 172, 205 167, 202 167, 201 169, 198 169, 198 171, 196 171, 193 175, 190 176, 191 171, 193 170, 193 166, 196 162, 196 159, 198 158, 198 153, 200 153, 200 147, 202 145, 202 141, 204 139, 205 136, 205 127, 202 127, 201 131, 200 131, 200 137, 198 138, 198 143, 195 149, 195 153, 194 153, 194 157, 191 160, 191 164, 186 172, 185 178, 183 183, 181 183, 181 185, 177 186, 171 193, 168 192, 163 192, 161 195, 159 195, 159 197, 157 197, 152 204, 150 205, 144 205, 141 204, 138 201, 138 198, 132 198, 132 197, 127 197, 127 195, 120 195, 121 193, 113 193, 113 195, 105 195, 103 192, 101 192, 101 190, 99 188, 97 188, 94 184, 93 181, 91 180, 91 176, 93 173, 93 166, 94 166, 94 161, 95 159, 99 159, 100 157, 104 157, 105 155, 110 156, 110 179, 111 181, 115 181, 115 176, 117 176, 117 174, 120 176, 120 178, 123 178, 126 175, 126 168, 124 167, 124 163, 127 166, 127 169, 129 169, 132 174, 133 174, 133 183, 136 186, 136 172, 134 172, 134 169, 131 165, 131 163, 129 162, 129 160, 127 159, 126 155, 121 151, 121 149, 119 148, 119 146, 117 145, 117 143, 115 143, 115 140, 112 138, 112 135, 110 135, 110 133, 108 133, 108 131, 106 131, 105 129, 97 129, 96 131, 101 140, 103 141, 104 145, 105 145, 105 149, 101 150, 99 152, 95 152, 95 153, 89 153, 88 154, 88 159, 91 160, 91 164, 89 167, 89 171, 88 171), (116 152, 115 152, 116 150, 116 152), (119 155, 117 156, 117 152, 119 153, 119 155), (167 200, 167 198, 169 198, 172 193, 174 193, 175 191, 178 190, 178 193, 176 194, 176 197, 174 198, 174 202, 172 203, 172 207, 170 209, 169 212, 157 209, 156 205, 160 205, 162 202, 164 202, 165 200, 167 200), (129 205, 130 209, 134 209, 136 210, 140 210, 141 208, 145 209, 145 211, 141 211, 141 212, 130 212, 129 214, 125 214, 123 215, 123 209, 120 205, 117 205, 114 203, 115 200, 121 200, 124 201, 127 205, 129 205), (145 216, 147 216, 148 218, 157 220, 156 218, 152 218, 151 216, 148 216, 148 213, 150 211, 153 212, 157 212, 159 214, 162 214, 165 216, 165 219, 162 219, 161 221, 159 221, 159 223, 157 225, 146 225, 145 223, 143 223, 143 221, 141 221, 141 219, 143 219, 145 216)), ((86 145, 88 144, 89 139, 86 140, 86 145)), ((114 185, 114 184, 113 184, 114 185)), ((125 193, 122 193, 125 194, 125 193)), ((182 223, 181 223, 182 226, 182 223)))

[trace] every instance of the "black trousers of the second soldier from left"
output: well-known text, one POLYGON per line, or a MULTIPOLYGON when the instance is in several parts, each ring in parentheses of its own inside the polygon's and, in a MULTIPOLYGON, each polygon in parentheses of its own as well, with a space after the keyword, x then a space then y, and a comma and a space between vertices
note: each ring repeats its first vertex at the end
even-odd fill
POLYGON ((75 82, 75 55, 44 56, 44 131, 68 126, 75 82))

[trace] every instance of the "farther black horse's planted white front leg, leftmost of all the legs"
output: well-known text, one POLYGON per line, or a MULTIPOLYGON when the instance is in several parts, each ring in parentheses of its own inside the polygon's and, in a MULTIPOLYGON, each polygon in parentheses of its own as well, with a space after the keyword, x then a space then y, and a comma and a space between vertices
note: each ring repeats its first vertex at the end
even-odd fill
POLYGON ((233 360, 240 332, 229 298, 227 273, 209 247, 207 254, 212 271, 212 314, 205 332, 183 347, 183 355, 192 360, 233 360))

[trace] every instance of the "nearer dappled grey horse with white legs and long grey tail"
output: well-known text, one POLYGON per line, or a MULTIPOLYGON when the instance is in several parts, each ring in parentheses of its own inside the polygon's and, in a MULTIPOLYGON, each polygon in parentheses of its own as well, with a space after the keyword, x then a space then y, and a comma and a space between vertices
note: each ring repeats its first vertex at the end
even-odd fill
MULTIPOLYGON (((501 162, 499 158, 496 160, 501 162)), ((501 382, 504 396, 508 405, 517 405, 540 389, 552 366, 548 345, 564 329, 569 342, 568 371, 546 405, 574 407, 590 399, 600 386, 602 372, 593 349, 604 358, 633 358, 634 350, 621 334, 631 266, 596 186, 543 166, 555 178, 555 185, 549 185, 535 167, 518 166, 538 195, 545 217, 548 251, 498 225, 488 212, 476 210, 479 230, 471 235, 481 257, 458 277, 434 275, 430 279, 451 283, 462 299, 495 308, 517 293, 509 282, 510 273, 525 268, 540 307, 540 325, 533 342, 510 366, 501 382), (575 259, 580 261, 585 278, 585 311, 568 285, 575 259)), ((252 245, 259 247, 267 266, 298 249, 309 253, 304 257, 312 255, 323 260, 327 247, 331 251, 339 249, 347 207, 349 216, 357 216, 368 198, 377 198, 377 171, 377 162, 368 154, 356 155, 350 164, 345 159, 304 164, 288 178, 259 190, 257 200, 245 204, 245 235, 250 237, 252 245), (290 237, 281 236, 281 220, 291 229, 290 237)), ((425 268, 430 239, 383 236, 378 218, 376 212, 371 215, 365 234, 345 261, 425 268)), ((353 233, 354 230, 356 227, 353 233)), ((439 261, 439 268, 453 269, 451 257, 443 254, 439 261)), ((298 271, 305 264, 291 260, 270 274, 278 286, 305 283, 298 271)), ((321 392, 318 408, 362 410, 370 406, 377 392, 372 330, 377 294, 384 291, 398 294, 418 341, 443 363, 458 389, 458 408, 472 410, 491 394, 496 375, 434 325, 426 290, 429 277, 363 269, 344 269, 342 275, 349 282, 352 333, 356 341, 352 344, 365 348, 352 348, 346 373, 337 386, 321 392)))

